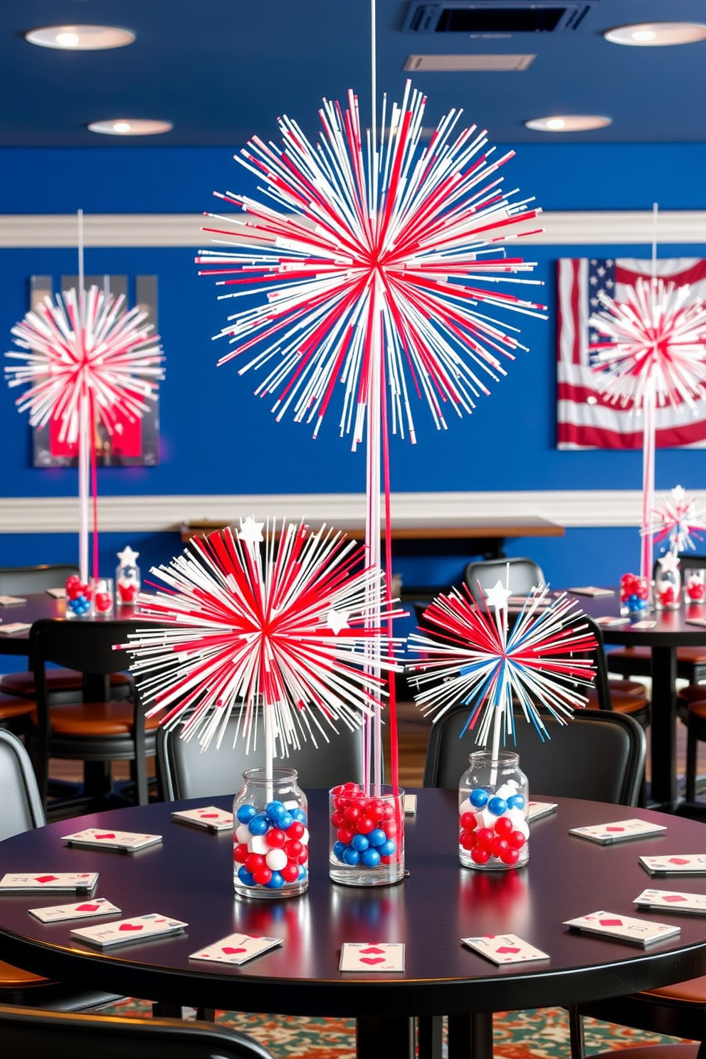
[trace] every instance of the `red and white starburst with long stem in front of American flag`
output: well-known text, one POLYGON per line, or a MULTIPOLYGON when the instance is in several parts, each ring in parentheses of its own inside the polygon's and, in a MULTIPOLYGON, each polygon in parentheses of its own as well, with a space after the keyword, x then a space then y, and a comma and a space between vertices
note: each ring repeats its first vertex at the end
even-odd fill
POLYGON ((612 403, 642 415, 642 548, 640 575, 652 577, 655 411, 694 408, 706 395, 706 306, 689 302, 689 287, 638 279, 624 302, 600 295, 591 326, 605 341, 597 354, 599 389, 612 403))

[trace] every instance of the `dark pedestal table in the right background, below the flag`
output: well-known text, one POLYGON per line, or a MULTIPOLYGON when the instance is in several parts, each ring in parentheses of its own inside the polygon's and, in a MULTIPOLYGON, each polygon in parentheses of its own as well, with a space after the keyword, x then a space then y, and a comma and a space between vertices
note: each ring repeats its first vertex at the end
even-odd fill
MULTIPOLYGON (((592 617, 620 613, 620 596, 576 596, 592 617)), ((706 616, 706 607, 682 606, 678 610, 655 610, 640 614, 628 625, 601 626, 607 644, 649 647, 652 652, 652 732, 650 764, 652 801, 666 809, 678 801, 676 785, 676 648, 703 647, 706 628, 689 625, 689 617, 706 616), (656 622, 653 629, 635 629, 634 622, 656 622)), ((610 668, 610 657, 609 657, 610 668)))

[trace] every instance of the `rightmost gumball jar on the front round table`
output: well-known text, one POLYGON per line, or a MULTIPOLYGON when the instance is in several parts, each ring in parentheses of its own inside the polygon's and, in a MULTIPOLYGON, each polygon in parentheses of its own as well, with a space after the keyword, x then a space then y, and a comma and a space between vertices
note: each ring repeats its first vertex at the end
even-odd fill
POLYGON ((465 867, 502 872, 527 863, 528 795, 518 754, 470 755, 458 785, 458 858, 465 867))

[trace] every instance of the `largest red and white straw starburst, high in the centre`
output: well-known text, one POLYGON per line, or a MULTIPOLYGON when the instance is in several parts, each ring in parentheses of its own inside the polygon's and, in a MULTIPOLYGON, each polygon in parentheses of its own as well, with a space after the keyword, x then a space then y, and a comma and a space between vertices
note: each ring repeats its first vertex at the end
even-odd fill
MULTIPOLYGON (((443 406, 470 413, 504 361, 525 349, 518 328, 495 310, 544 317, 545 306, 501 289, 538 284, 521 277, 535 264, 503 244, 530 234, 540 212, 499 176, 513 151, 494 157, 484 131, 459 127, 461 111, 424 134, 426 98, 408 83, 401 106, 383 98, 379 143, 361 129, 358 98, 348 109, 324 101, 312 144, 289 118, 283 145, 253 138, 236 161, 263 181, 261 200, 228 192, 237 218, 211 214, 204 229, 228 250, 202 250, 201 274, 234 289, 221 298, 256 304, 229 317, 216 336, 243 360, 240 374, 267 371, 260 396, 275 395, 277 418, 292 411, 318 433, 337 383, 341 434, 362 441, 374 346, 381 342, 392 432, 415 441, 411 394, 427 401, 437 428, 443 406), (269 200, 269 201, 268 201, 269 200), (525 226, 524 229, 522 226, 525 226)), ((537 231, 537 229, 535 229, 537 231)))

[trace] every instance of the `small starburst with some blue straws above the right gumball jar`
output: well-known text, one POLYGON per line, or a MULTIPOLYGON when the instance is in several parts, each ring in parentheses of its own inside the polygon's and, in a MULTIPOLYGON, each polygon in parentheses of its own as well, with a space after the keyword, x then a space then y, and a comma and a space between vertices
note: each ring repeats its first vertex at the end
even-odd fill
POLYGON ((501 730, 505 740, 514 737, 515 701, 544 740, 549 734, 540 706, 566 723, 585 705, 579 688, 595 671, 596 641, 574 599, 533 589, 508 631, 508 596, 499 582, 482 610, 466 586, 463 593, 453 588, 424 610, 424 625, 436 634, 415 632, 408 641, 422 657, 409 667, 422 688, 415 696, 422 713, 438 720, 458 702, 471 705, 464 732, 474 731, 486 746, 492 729, 494 753, 501 730))

